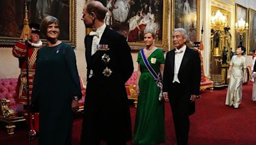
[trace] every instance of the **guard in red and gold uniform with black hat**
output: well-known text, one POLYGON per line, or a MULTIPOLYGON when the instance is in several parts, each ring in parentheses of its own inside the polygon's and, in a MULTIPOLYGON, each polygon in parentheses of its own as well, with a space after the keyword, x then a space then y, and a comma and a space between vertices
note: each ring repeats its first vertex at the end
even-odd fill
POLYGON ((31 39, 27 42, 25 40, 20 40, 13 46, 13 56, 19 59, 20 75, 16 88, 15 101, 24 104, 24 114, 26 121, 30 128, 29 130, 29 139, 33 139, 38 132, 39 126, 39 114, 38 113, 29 113, 29 105, 31 104, 31 93, 33 89, 33 79, 35 76, 36 68, 36 54, 38 49, 42 47, 42 41, 40 41, 40 25, 39 24, 29 24, 31 29, 31 39), (28 43, 26 45, 26 43, 28 43), (28 59, 27 59, 27 50, 28 50, 28 59), (28 60, 28 63, 27 63, 28 60), (28 65, 28 67, 27 67, 28 65), (27 68, 28 68, 28 80, 27 81, 27 68), (27 97, 26 83, 29 85, 29 101, 27 97), (29 102, 29 104, 28 104, 29 102), (29 116, 28 116, 29 113, 29 116))

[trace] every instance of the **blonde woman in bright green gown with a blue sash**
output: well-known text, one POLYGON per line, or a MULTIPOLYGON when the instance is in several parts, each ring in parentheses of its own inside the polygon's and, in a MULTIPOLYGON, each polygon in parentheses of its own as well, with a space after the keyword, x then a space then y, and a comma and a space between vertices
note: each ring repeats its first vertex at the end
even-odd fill
MULTIPOLYGON (((146 48, 141 50, 148 64, 157 74, 163 76, 164 54, 154 46, 156 33, 145 29, 144 41, 146 48)), ((157 86, 154 76, 148 71, 138 53, 138 72, 136 91, 138 92, 138 107, 134 127, 134 144, 158 144, 165 142, 164 136, 164 101, 161 97, 161 87, 157 86)))

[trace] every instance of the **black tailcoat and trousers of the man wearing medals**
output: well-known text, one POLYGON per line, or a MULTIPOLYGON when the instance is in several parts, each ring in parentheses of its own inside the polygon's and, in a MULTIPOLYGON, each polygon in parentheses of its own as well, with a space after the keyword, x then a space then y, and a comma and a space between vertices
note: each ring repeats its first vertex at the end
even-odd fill
POLYGON ((87 86, 84 100, 81 143, 102 139, 108 142, 131 140, 131 115, 125 82, 134 71, 131 48, 124 36, 106 27, 100 45, 108 45, 108 51, 97 51, 91 56, 93 36, 86 36, 87 86), (105 63, 106 53, 110 60, 105 63), (112 74, 104 76, 104 69, 112 74), (90 71, 93 75, 89 77, 90 71))

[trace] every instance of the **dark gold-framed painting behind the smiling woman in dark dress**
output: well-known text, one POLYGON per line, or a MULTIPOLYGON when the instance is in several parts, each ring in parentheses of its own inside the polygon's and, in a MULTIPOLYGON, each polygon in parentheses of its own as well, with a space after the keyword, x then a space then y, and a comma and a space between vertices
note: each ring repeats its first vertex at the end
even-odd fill
MULTIPOLYGON (((2 0, 0 2, 0 45, 12 46, 19 40, 25 16, 25 3, 28 8, 29 23, 40 24, 44 17, 52 15, 60 21, 59 39, 76 46, 75 0, 2 0)), ((44 40, 42 36, 40 37, 44 40)))

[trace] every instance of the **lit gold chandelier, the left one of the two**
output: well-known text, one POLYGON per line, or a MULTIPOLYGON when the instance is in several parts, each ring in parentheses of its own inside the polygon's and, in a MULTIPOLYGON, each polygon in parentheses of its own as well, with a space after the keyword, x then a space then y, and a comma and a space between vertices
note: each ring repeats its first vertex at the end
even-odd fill
POLYGON ((226 17, 218 10, 211 17, 211 27, 214 31, 223 31, 226 25, 226 17))

